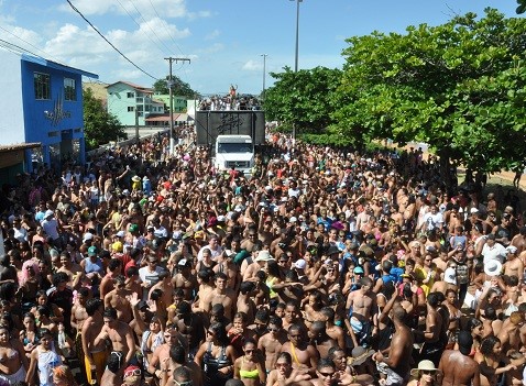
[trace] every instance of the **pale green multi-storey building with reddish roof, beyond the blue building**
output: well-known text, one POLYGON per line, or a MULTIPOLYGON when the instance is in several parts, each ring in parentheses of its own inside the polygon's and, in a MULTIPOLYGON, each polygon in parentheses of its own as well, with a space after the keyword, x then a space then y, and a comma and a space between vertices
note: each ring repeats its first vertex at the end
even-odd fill
POLYGON ((146 125, 150 115, 164 114, 164 102, 154 99, 153 89, 118 81, 106 87, 108 112, 116 115, 125 126, 146 125))

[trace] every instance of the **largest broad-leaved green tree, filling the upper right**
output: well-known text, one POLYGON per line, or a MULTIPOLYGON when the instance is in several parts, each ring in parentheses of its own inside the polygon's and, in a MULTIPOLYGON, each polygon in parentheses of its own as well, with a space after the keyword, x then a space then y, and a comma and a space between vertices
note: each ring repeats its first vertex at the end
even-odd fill
POLYGON ((348 40, 333 129, 357 143, 427 142, 446 183, 451 159, 480 172, 524 162, 526 21, 486 9, 406 31, 348 40))

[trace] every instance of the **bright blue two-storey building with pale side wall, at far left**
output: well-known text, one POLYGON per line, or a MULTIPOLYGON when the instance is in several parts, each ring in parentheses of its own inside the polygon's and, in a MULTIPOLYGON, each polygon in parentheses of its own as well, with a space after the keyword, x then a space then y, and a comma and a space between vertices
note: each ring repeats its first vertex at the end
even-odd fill
POLYGON ((0 89, 7 97, 0 159, 12 158, 0 162, 0 178, 32 172, 40 163, 54 168, 64 161, 84 165, 83 76, 98 75, 1 47, 0 63, 0 89), (8 156, 10 150, 23 151, 23 157, 8 156))

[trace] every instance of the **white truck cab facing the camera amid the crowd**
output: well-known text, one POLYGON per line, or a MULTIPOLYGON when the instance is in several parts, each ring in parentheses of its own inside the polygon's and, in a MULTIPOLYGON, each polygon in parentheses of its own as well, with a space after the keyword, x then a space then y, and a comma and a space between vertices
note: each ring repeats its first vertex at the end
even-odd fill
POLYGON ((217 170, 243 172, 245 176, 252 174, 254 166, 254 144, 250 135, 229 134, 218 135, 215 146, 213 166, 217 170))

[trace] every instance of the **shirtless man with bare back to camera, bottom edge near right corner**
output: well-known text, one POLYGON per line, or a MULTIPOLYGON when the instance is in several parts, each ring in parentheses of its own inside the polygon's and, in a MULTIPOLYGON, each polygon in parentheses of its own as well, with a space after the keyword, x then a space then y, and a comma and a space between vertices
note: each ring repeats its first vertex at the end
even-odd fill
POLYGON ((480 386, 479 364, 469 355, 473 338, 468 331, 460 331, 459 351, 446 350, 438 368, 442 372, 442 386, 480 386))

